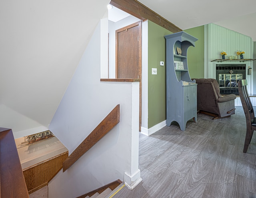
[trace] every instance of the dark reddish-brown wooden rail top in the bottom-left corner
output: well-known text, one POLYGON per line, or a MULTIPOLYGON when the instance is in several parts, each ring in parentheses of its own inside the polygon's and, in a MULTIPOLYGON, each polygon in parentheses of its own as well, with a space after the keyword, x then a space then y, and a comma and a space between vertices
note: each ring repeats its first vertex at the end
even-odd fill
POLYGON ((0 197, 29 198, 12 130, 0 128, 0 197))

